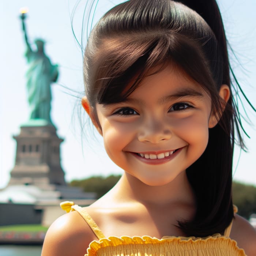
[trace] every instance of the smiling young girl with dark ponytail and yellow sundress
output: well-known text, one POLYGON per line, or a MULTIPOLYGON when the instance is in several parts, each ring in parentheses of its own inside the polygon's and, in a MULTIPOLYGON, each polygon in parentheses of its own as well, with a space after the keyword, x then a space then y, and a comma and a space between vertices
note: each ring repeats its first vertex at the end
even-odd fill
POLYGON ((117 5, 90 34, 84 83, 124 173, 89 207, 64 202, 42 255, 256 255, 231 197, 238 122, 215 0, 117 5))

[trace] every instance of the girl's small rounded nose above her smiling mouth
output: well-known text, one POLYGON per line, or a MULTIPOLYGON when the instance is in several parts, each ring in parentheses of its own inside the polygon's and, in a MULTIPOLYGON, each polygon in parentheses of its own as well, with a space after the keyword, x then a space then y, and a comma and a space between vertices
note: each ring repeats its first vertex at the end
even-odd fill
POLYGON ((142 125, 138 134, 140 142, 159 143, 163 140, 169 140, 172 137, 172 132, 168 125, 163 124, 163 121, 151 120, 146 125, 142 125))

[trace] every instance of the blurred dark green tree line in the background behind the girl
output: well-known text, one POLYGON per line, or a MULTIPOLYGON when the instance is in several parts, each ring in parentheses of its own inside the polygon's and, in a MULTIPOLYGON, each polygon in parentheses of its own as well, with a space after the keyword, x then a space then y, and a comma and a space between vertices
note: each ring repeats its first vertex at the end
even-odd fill
MULTIPOLYGON (((73 180, 71 186, 80 187, 86 192, 96 192, 97 198, 108 192, 120 179, 120 175, 108 177, 93 176, 83 180, 73 180)), ((256 213, 256 187, 233 181, 233 203, 238 207, 238 214, 249 219, 250 215, 256 213)))

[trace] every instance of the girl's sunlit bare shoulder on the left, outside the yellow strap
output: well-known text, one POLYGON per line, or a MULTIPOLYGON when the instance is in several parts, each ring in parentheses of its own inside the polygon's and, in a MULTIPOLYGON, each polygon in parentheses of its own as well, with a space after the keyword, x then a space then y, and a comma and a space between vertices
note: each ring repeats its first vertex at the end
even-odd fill
POLYGON ((95 235, 76 211, 62 215, 49 227, 41 256, 84 255, 95 235))

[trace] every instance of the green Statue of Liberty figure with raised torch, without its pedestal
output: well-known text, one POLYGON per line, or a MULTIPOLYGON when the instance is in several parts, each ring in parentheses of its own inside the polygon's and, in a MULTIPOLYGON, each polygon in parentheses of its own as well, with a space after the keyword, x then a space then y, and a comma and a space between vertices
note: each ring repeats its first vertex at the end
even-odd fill
POLYGON ((44 120, 47 124, 52 124, 50 118, 52 99, 50 85, 57 81, 58 65, 53 65, 45 55, 42 39, 35 40, 37 50, 31 48, 25 26, 26 13, 23 12, 20 18, 26 42, 25 57, 28 63, 26 87, 29 102, 29 120, 44 120))

